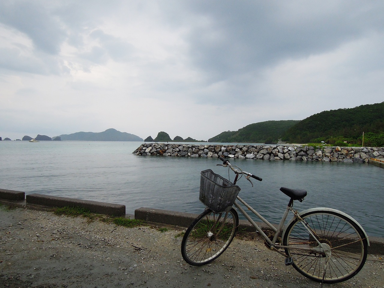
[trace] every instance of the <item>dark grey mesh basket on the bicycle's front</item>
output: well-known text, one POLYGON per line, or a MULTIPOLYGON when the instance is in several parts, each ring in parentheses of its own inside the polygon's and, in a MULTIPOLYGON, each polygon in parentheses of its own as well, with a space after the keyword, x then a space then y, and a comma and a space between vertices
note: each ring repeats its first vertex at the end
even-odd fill
POLYGON ((199 200, 215 213, 231 209, 240 187, 215 174, 211 169, 201 171, 199 200))

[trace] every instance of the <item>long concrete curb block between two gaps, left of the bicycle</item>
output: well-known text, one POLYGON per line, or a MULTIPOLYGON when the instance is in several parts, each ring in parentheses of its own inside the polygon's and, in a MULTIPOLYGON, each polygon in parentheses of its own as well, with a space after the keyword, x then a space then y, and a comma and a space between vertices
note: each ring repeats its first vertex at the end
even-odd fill
POLYGON ((125 205, 57 197, 44 194, 29 194, 26 195, 25 198, 27 205, 32 204, 48 207, 81 207, 84 209, 89 209, 93 213, 112 216, 125 216, 125 205))

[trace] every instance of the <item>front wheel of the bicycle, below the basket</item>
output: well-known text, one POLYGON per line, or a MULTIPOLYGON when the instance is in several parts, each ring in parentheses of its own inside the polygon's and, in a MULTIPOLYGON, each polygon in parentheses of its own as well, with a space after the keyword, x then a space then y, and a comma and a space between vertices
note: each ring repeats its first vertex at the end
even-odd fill
POLYGON ((212 262, 228 248, 238 227, 235 209, 215 213, 205 210, 190 225, 181 242, 181 255, 190 265, 212 262))

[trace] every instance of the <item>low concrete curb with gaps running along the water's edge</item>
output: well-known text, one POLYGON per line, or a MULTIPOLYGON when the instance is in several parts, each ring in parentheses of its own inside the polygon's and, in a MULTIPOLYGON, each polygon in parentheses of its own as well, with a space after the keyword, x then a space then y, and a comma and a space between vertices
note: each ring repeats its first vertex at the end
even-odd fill
MULTIPOLYGON (((56 197, 43 194, 29 194, 25 199, 21 199, 24 192, 0 189, 0 203, 4 205, 34 209, 34 210, 51 210, 53 207, 75 206, 91 210, 97 214, 111 215, 111 216, 125 216, 132 218, 132 215, 126 214, 125 205, 111 204, 105 202, 88 201, 81 199, 56 197)), ((202 210, 203 212, 203 210, 202 210)), ((134 218, 144 220, 146 222, 156 223, 159 225, 170 225, 177 229, 188 228, 193 220, 199 214, 182 213, 161 209, 152 209, 141 207, 135 210, 134 218)), ((269 227, 264 223, 257 222, 263 231, 268 235, 269 227)), ((255 232, 255 228, 245 220, 239 221, 239 230, 245 232, 255 232)), ((384 255, 384 238, 369 237, 371 244, 368 250, 369 254, 384 255)))

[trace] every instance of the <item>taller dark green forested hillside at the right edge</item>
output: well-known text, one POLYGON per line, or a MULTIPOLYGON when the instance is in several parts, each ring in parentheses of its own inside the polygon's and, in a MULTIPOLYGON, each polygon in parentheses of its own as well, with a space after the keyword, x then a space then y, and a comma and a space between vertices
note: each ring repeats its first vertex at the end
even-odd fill
POLYGON ((384 102, 355 108, 323 111, 290 127, 283 141, 308 143, 324 141, 328 144, 384 146, 384 102))

